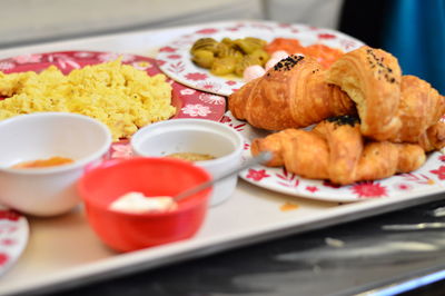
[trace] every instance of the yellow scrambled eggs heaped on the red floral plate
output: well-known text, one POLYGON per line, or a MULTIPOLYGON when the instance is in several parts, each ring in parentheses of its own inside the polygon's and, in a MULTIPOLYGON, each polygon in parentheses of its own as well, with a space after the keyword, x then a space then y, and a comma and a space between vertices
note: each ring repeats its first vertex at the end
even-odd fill
POLYGON ((65 76, 50 66, 40 73, 0 72, 0 120, 42 111, 90 116, 106 124, 115 140, 129 138, 140 127, 175 115, 171 86, 164 75, 115 60, 65 76))

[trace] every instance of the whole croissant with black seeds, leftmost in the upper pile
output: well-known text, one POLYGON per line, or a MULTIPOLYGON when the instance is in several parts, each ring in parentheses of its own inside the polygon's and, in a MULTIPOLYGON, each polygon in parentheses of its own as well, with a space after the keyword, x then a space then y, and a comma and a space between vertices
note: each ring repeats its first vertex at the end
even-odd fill
POLYGON ((283 59, 235 91, 228 109, 237 119, 267 130, 307 127, 332 116, 356 114, 349 97, 325 82, 322 66, 301 56, 283 59))

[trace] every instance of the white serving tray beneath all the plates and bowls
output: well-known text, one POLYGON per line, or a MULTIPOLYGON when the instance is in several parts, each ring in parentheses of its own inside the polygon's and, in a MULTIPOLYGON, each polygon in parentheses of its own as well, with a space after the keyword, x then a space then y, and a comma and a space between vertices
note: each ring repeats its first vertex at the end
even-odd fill
MULTIPOLYGON (((217 24, 212 24, 217 26, 217 24)), ((154 56, 169 40, 200 26, 138 31, 0 50, 0 59, 57 50, 99 50, 154 56), (168 32, 168 33, 167 33, 168 32)), ((196 237, 129 254, 107 248, 88 226, 82 208, 56 218, 29 218, 29 243, 17 264, 0 277, 0 295, 51 290, 140 269, 206 256, 247 244, 359 219, 442 199, 443 189, 355 204, 317 201, 256 187, 244 180, 234 196, 211 208, 196 237), (291 203, 297 209, 283 211, 291 203), (234 219, 233 217, 237 217, 234 219)))

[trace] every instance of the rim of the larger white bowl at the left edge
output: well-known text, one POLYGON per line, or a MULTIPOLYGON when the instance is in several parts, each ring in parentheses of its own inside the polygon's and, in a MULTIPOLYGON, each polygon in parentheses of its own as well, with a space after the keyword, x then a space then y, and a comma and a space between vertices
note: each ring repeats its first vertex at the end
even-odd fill
POLYGON ((91 125, 95 125, 98 127, 103 135, 106 136, 106 140, 102 142, 102 145, 93 152, 90 154, 87 157, 82 157, 80 159, 77 159, 72 164, 67 164, 63 166, 55 166, 55 167, 44 167, 44 168, 31 168, 31 169, 14 169, 14 168, 2 168, 0 167, 0 171, 7 171, 11 174, 18 174, 18 175, 46 175, 46 174, 55 174, 55 172, 61 172, 61 171, 68 171, 72 169, 77 169, 79 167, 83 167, 85 165, 97 160, 100 158, 102 155, 105 155, 111 145, 111 132, 108 129, 108 127, 100 122, 97 119, 93 119, 91 117, 85 116, 85 115, 79 115, 79 114, 70 114, 70 112, 36 112, 36 114, 28 114, 28 115, 20 115, 16 117, 11 117, 4 120, 0 121, 0 127, 10 125, 11 122, 16 122, 18 120, 27 120, 30 117, 70 117, 83 121, 88 121, 91 125))

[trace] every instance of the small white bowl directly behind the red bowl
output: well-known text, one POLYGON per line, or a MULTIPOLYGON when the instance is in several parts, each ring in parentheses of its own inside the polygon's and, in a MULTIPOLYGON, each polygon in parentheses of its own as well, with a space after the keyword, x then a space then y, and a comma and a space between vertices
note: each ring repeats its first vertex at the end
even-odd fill
MULTIPOLYGON (((235 129, 206 119, 174 119, 139 129, 131 138, 137 156, 165 157, 177 152, 205 154, 216 157, 196 161, 216 178, 241 164, 243 137, 235 129)), ((175 179, 175 176, 171 176, 175 179)), ((237 185, 237 175, 214 186, 210 206, 229 198, 237 185)))

